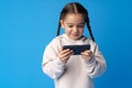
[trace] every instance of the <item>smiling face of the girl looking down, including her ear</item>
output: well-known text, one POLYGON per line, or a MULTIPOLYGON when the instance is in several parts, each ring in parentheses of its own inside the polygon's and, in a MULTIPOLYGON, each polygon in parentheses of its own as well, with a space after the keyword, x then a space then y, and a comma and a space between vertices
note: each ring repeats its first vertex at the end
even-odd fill
POLYGON ((70 40, 79 40, 84 33, 85 19, 79 13, 68 13, 61 20, 62 28, 70 40))

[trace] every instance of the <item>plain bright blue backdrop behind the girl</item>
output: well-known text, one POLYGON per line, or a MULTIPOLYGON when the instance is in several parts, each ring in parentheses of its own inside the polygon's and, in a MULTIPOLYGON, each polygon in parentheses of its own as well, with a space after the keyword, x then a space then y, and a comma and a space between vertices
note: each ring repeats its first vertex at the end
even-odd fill
POLYGON ((107 61, 96 88, 132 88, 131 0, 1 0, 0 88, 54 88, 42 72, 43 51, 56 35, 61 10, 70 1, 88 9, 107 61))

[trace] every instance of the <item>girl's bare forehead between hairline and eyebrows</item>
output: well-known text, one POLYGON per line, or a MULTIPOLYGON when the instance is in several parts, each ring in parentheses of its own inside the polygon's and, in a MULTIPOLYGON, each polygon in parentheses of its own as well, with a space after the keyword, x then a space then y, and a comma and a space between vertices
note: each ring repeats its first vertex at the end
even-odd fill
POLYGON ((64 22, 66 23, 84 23, 84 15, 80 13, 68 13, 66 14, 64 22))

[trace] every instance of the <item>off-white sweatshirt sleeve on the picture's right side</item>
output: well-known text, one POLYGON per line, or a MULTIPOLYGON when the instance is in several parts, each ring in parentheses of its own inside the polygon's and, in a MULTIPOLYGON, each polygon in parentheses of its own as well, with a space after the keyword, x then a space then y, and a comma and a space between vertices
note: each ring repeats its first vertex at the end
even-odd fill
POLYGON ((90 61, 85 62, 86 70, 89 77, 95 78, 100 76, 106 70, 106 61, 103 55, 98 48, 98 45, 95 45, 94 56, 90 61))

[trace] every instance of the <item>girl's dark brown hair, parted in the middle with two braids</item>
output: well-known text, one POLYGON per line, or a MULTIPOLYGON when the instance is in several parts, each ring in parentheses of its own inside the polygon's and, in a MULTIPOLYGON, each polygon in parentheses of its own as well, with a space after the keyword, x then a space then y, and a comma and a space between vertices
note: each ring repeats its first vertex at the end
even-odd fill
POLYGON ((84 15, 84 18, 85 18, 85 22, 87 24, 90 37, 91 37, 92 41, 95 41, 92 32, 91 32, 90 23, 89 23, 88 11, 78 2, 70 2, 70 3, 66 4, 64 7, 64 9, 62 10, 56 36, 59 35, 61 20, 64 19, 67 13, 81 13, 84 15))

